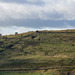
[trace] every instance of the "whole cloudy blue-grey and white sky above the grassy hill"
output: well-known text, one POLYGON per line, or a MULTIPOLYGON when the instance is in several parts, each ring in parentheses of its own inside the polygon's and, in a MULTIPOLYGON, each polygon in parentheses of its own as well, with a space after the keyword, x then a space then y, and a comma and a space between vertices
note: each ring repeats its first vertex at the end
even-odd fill
POLYGON ((75 29, 75 0, 0 0, 0 33, 75 29))

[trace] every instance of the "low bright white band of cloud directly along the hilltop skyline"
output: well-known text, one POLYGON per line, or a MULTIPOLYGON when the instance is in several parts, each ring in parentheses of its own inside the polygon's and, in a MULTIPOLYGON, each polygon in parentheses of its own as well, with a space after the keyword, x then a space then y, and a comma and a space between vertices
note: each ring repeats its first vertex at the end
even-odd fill
POLYGON ((68 23, 64 23, 63 28, 57 28, 57 27, 41 27, 39 29, 37 28, 28 28, 28 27, 23 27, 23 26, 10 26, 10 27, 1 27, 0 26, 0 34, 2 35, 9 35, 9 34, 15 34, 15 32, 18 33, 25 33, 28 31, 36 31, 36 30, 64 30, 64 29, 74 29, 71 25, 68 23))

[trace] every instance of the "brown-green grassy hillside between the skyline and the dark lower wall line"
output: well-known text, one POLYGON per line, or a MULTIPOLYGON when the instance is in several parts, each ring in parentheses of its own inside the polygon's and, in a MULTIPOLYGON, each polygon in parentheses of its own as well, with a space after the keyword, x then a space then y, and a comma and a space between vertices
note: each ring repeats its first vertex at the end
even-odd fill
POLYGON ((1 68, 75 66, 75 30, 0 37, 1 68))

